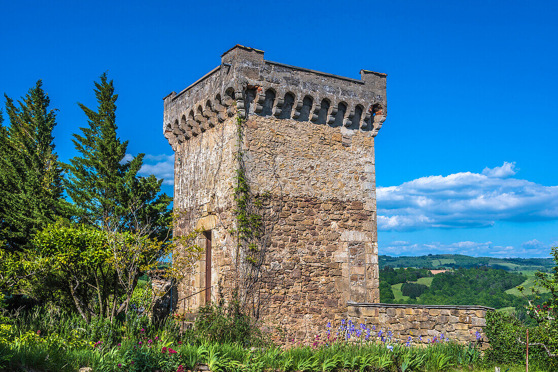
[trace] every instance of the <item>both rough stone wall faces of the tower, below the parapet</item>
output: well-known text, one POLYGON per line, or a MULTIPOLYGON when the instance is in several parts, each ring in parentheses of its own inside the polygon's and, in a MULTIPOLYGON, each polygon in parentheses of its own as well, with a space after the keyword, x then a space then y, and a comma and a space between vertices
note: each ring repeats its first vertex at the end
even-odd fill
MULTIPOLYGON (((212 299, 230 299, 238 278, 233 216, 234 118, 181 144, 175 156, 177 233, 213 234, 212 299)), ((262 267, 262 318, 285 337, 310 339, 344 317, 347 301, 378 301, 374 139, 338 128, 250 115, 242 144, 252 192, 279 207, 262 267)), ((204 246, 203 238, 200 245, 204 246)), ((178 310, 205 303, 205 257, 178 287, 178 310)))

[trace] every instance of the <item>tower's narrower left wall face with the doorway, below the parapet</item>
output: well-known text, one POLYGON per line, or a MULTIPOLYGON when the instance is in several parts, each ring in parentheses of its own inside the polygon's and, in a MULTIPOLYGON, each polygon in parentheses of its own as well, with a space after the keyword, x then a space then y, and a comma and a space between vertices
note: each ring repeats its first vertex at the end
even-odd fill
MULTIPOLYGON (((217 299, 215 294, 219 287, 228 281, 226 273, 234 270, 230 266, 234 259, 235 251, 231 249, 234 242, 229 230, 234 227, 231 209, 237 168, 233 157, 237 148, 235 133, 236 127, 229 119, 178 144, 175 153, 174 209, 180 218, 174 233, 187 234, 201 228, 211 230, 211 283, 215 286, 211 290, 212 299, 217 299)), ((203 236, 198 244, 205 247, 203 236)), ((205 288, 205 259, 204 255, 195 273, 178 284, 177 309, 181 312, 191 312, 205 305, 205 293, 195 294, 205 288)))

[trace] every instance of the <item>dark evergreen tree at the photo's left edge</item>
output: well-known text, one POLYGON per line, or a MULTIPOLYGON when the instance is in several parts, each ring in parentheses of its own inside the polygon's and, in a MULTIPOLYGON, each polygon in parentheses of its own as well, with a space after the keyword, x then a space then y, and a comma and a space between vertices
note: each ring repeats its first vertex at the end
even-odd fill
POLYGON ((10 125, 0 118, 0 234, 9 251, 26 248, 36 232, 69 215, 54 151, 56 114, 42 81, 16 105, 6 94, 10 125))

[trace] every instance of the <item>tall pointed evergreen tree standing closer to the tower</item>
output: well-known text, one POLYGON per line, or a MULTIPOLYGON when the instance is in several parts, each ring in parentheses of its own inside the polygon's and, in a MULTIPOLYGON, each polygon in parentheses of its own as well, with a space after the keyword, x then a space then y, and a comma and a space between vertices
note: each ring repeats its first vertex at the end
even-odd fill
POLYGON ((95 81, 97 110, 78 103, 88 127, 74 134, 80 156, 66 165, 68 195, 78 207, 78 219, 105 231, 131 231, 152 237, 170 222, 171 197, 160 194, 162 180, 140 177, 144 154, 126 161, 128 141, 117 137, 114 84, 107 73, 95 81))

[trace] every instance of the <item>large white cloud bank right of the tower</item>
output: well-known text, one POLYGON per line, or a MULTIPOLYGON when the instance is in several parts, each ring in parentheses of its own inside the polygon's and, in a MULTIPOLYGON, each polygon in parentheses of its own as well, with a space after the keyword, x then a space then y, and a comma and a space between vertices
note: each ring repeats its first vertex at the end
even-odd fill
POLYGON ((558 219, 558 186, 510 178, 515 163, 482 173, 429 176, 378 187, 378 229, 489 227, 496 221, 558 219))

